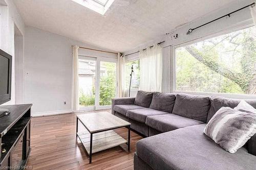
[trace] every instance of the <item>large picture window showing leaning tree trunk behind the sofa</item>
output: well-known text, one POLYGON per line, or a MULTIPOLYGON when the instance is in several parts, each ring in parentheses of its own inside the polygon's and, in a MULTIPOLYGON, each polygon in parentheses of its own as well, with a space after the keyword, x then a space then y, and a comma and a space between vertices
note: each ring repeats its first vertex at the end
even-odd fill
POLYGON ((256 94, 254 27, 176 48, 175 90, 256 94))

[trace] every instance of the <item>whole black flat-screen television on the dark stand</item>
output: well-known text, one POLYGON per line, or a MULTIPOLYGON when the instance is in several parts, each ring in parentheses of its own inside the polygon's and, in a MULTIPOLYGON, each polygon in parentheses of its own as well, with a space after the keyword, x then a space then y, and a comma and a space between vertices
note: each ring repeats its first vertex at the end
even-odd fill
POLYGON ((0 105, 11 100, 12 56, 0 50, 0 105))

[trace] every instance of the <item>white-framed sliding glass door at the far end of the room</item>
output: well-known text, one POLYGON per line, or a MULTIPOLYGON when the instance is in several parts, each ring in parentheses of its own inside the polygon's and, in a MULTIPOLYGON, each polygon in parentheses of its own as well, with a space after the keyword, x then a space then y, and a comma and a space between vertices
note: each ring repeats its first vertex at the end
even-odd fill
POLYGON ((111 108, 117 96, 117 59, 79 56, 80 110, 111 108))

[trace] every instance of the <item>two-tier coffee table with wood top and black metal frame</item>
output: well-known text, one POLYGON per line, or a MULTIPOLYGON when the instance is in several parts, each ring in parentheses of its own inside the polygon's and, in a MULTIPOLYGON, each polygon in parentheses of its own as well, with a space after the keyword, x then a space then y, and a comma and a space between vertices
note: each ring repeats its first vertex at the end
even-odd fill
POLYGON ((130 126, 129 122, 109 113, 87 113, 76 116, 76 137, 81 140, 84 149, 87 151, 92 163, 92 154, 116 147, 120 144, 127 144, 130 151, 130 126), (87 131, 78 132, 78 121, 87 131), (126 127, 128 129, 128 140, 119 136, 114 129, 126 127))

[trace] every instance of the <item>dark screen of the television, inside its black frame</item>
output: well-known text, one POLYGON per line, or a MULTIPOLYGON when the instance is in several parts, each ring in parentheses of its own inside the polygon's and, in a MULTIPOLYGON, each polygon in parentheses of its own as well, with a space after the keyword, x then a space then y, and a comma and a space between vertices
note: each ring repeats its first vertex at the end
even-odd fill
POLYGON ((8 94, 9 59, 0 56, 0 95, 8 94))

